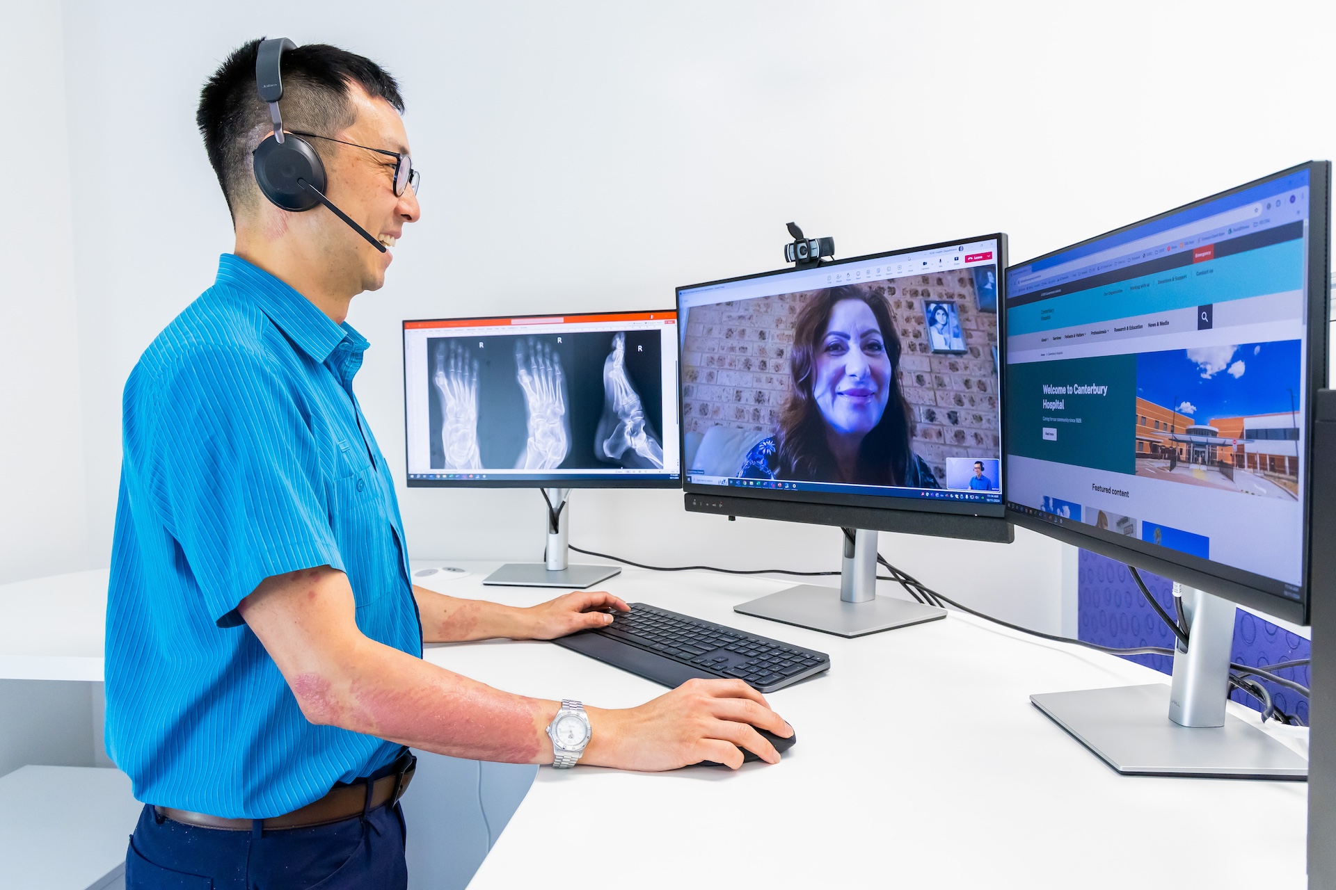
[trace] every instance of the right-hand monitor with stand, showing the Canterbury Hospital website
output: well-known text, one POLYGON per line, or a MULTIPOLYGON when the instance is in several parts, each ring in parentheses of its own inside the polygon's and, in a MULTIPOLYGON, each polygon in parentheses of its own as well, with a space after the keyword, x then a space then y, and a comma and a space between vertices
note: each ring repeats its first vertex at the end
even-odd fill
POLYGON ((1169 721, 1162 750, 1125 730, 1146 709, 1226 726, 1225 599, 1308 620, 1329 177, 1301 164, 1006 272, 1007 515, 1186 586, 1172 695, 1097 690, 1094 714, 1089 693, 1035 697, 1120 769, 1295 778, 1246 751, 1202 773, 1169 721))

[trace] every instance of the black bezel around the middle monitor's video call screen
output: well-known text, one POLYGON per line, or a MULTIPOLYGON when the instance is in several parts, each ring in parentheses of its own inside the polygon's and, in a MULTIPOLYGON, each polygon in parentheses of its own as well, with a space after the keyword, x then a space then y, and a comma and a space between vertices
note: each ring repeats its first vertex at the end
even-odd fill
MULTIPOLYGON (((970 242, 997 242, 997 270, 998 270, 998 416, 1002 419, 1001 428, 998 430, 999 436, 999 454, 1006 455, 1006 415, 1003 412, 1003 402, 1006 392, 1006 319, 1003 318, 1002 306, 1006 302, 1006 260, 1007 260, 1007 236, 1005 232, 990 232, 985 235, 975 235, 969 238, 953 238, 945 242, 937 242, 933 244, 922 244, 918 247, 898 248, 894 251, 884 251, 879 254, 863 254, 860 256, 850 256, 840 260, 834 260, 830 263, 822 263, 822 268, 838 268, 840 266, 847 266, 851 263, 864 263, 867 260, 884 259, 887 256, 903 256, 906 254, 916 254, 921 251, 931 251, 942 247, 951 247, 957 244, 967 244, 970 242)), ((752 275, 737 275, 735 278, 725 278, 713 282, 701 282, 699 284, 683 284, 676 288, 677 299, 677 319, 681 320, 681 292, 691 291, 699 287, 713 287, 716 284, 731 284, 735 282, 756 280, 763 278, 772 278, 776 275, 790 275, 796 271, 795 268, 780 268, 771 270, 768 272, 756 272, 752 275)), ((677 336, 677 416, 683 415, 683 334, 679 331, 677 336)), ((679 422, 679 436, 681 442, 680 454, 687 454, 687 424, 684 420, 679 422)), ((1002 462, 999 462, 1002 463, 1002 462)), ((923 514, 930 514, 935 519, 933 520, 933 531, 926 534, 933 534, 934 536, 942 538, 961 538, 966 540, 993 540, 993 542, 1010 542, 1011 530, 1006 520, 1006 468, 1002 470, 1002 503, 998 504, 977 504, 977 503, 947 503, 947 502, 933 502, 925 503, 922 500, 915 500, 914 498, 902 498, 895 495, 860 495, 860 494, 844 494, 844 492, 822 492, 822 491, 775 491, 768 488, 741 488, 732 486, 707 486, 687 482, 687 467, 681 468, 683 490, 687 495, 704 495, 705 498, 685 498, 685 504, 688 511, 700 512, 721 512, 715 508, 703 508, 700 504, 713 503, 716 499, 720 503, 731 504, 728 507, 728 515, 743 515, 755 516, 763 519, 780 519, 792 522, 804 522, 815 524, 827 526, 844 526, 844 527, 858 527, 858 528, 876 528, 882 531, 903 531, 908 534, 916 534, 923 528, 923 522, 926 516, 923 514), (790 504, 798 504, 792 511, 786 511, 790 504), (818 507, 819 510, 812 510, 818 507), (882 514, 878 516, 878 514, 882 514)))

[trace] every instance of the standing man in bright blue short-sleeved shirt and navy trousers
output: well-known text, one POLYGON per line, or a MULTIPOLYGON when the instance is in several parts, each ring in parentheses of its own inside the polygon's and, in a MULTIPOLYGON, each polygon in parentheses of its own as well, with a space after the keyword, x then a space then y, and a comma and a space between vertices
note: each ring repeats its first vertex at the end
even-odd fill
POLYGON ((510 608, 410 584, 393 478, 353 391, 367 342, 343 322, 421 213, 398 85, 334 47, 282 56, 282 127, 306 133, 327 199, 379 252, 325 207, 261 193, 251 153, 274 124, 257 44, 198 112, 235 251, 124 391, 107 743, 146 802, 127 886, 403 887, 405 746, 636 770, 737 767, 740 747, 776 762, 754 726, 791 730, 741 682, 582 710, 421 659, 424 640, 550 639, 627 604, 577 592, 510 608))

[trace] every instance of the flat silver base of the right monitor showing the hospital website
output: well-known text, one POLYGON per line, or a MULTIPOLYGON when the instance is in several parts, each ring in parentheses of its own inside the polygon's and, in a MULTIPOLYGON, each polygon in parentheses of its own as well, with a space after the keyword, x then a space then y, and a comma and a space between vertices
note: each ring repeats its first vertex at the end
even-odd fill
POLYGON ((1230 714, 1217 727, 1169 719, 1169 686, 1031 695, 1054 723, 1124 775, 1304 782, 1308 761, 1230 714))

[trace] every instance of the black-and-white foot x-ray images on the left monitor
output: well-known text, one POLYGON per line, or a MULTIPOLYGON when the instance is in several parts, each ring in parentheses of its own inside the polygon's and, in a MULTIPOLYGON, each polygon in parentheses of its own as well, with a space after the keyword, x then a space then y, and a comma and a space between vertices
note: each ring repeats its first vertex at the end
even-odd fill
POLYGON ((432 467, 664 466, 657 332, 433 338, 432 467))

